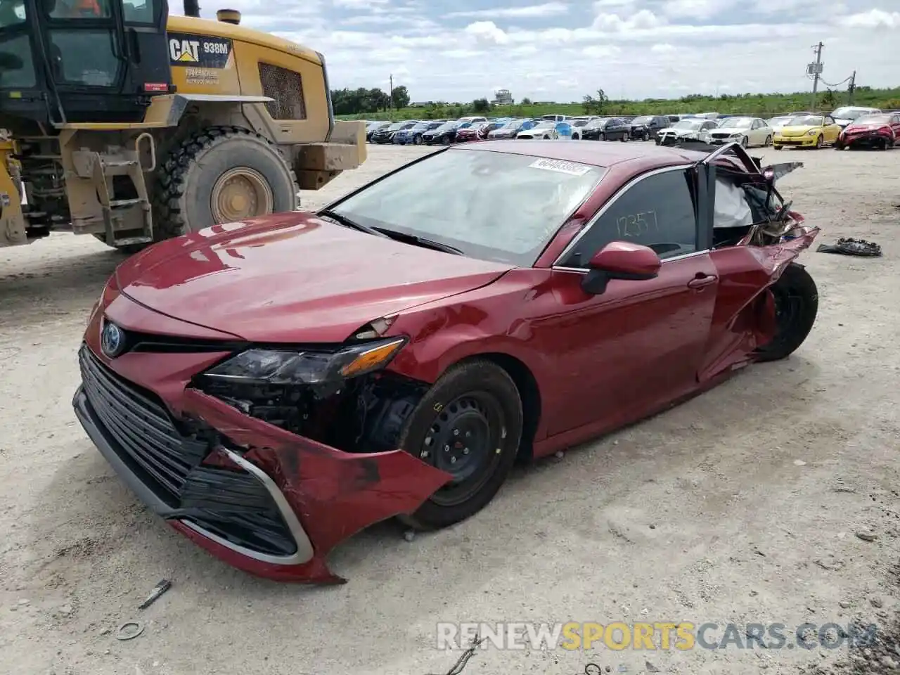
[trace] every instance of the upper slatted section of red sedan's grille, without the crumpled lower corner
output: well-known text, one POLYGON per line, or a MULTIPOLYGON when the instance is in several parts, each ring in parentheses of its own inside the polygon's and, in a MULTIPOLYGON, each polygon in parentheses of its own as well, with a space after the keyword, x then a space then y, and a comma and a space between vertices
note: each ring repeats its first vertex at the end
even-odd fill
POLYGON ((122 459, 174 507, 187 473, 200 464, 209 445, 182 437, 162 401, 112 373, 88 347, 78 352, 78 362, 87 401, 123 451, 122 459))

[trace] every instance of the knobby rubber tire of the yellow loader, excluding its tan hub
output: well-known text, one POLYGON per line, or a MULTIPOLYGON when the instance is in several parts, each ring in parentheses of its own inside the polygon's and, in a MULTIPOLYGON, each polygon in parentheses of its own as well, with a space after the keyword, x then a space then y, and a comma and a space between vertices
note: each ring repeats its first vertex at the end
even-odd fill
POLYGON ((184 140, 157 169, 154 238, 178 237, 217 224, 213 188, 229 171, 239 169, 250 169, 256 181, 265 180, 271 196, 271 210, 266 212, 297 209, 296 176, 274 144, 240 127, 211 127, 184 140))

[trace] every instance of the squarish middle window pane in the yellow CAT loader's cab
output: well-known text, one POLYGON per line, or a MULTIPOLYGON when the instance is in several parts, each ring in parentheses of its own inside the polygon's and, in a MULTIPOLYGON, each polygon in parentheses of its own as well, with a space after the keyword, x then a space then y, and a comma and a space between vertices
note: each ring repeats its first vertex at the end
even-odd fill
POLYGON ((113 48, 112 31, 50 31, 50 59, 60 84, 112 86, 121 61, 113 48))

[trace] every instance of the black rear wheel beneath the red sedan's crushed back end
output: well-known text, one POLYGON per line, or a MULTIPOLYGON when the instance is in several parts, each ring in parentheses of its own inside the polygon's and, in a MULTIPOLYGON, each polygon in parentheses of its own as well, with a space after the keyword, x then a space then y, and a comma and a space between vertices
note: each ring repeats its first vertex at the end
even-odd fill
POLYGON ((793 354, 813 329, 819 292, 806 267, 791 263, 771 287, 775 296, 775 337, 756 350, 757 361, 779 361, 793 354))

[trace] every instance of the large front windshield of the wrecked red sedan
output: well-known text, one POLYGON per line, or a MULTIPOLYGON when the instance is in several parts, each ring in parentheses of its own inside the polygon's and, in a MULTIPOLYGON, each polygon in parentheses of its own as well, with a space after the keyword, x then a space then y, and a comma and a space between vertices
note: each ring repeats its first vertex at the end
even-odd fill
POLYGON ((531 266, 604 173, 599 166, 452 149, 370 184, 332 211, 466 256, 531 266))

